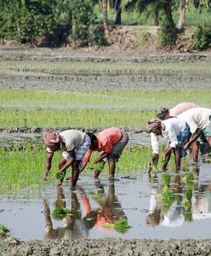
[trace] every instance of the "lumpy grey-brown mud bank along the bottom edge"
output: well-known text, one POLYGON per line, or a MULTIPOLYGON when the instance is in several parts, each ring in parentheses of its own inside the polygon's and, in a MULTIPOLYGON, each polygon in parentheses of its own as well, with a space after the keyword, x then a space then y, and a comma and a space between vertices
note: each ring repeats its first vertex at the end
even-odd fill
POLYGON ((210 255, 210 240, 55 240, 20 241, 8 238, 0 242, 1 256, 53 255, 210 255))

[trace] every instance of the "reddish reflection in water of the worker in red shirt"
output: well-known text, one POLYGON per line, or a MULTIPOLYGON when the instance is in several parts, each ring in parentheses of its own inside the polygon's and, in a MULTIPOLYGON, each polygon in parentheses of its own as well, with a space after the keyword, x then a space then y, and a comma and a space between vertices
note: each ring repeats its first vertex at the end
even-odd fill
POLYGON ((92 210, 90 207, 88 197, 82 196, 83 207, 85 211, 84 221, 89 227, 95 227, 99 230, 104 229, 103 226, 106 223, 114 224, 120 218, 126 218, 121 207, 121 204, 117 201, 115 196, 114 183, 109 184, 108 195, 106 196, 103 186, 98 183, 100 190, 98 194, 93 195, 95 201, 97 201, 101 209, 92 210))

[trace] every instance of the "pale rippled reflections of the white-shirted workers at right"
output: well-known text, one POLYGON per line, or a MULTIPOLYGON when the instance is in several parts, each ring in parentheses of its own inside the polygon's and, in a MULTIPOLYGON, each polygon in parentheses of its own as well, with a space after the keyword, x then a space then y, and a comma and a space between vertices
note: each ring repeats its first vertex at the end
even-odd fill
POLYGON ((177 195, 177 200, 169 204, 159 200, 163 183, 151 179, 150 211, 145 223, 151 227, 175 228, 185 222, 211 218, 211 183, 199 183, 199 175, 197 165, 192 166, 191 172, 171 173, 170 189, 177 195))

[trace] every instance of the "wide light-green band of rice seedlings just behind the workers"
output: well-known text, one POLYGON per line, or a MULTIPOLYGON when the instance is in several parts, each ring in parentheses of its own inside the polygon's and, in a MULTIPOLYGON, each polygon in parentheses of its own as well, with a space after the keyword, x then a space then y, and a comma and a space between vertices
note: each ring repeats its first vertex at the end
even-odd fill
POLYGON ((209 107, 210 96, 210 90, 0 90, 0 127, 143 129, 157 106, 191 100, 209 107))

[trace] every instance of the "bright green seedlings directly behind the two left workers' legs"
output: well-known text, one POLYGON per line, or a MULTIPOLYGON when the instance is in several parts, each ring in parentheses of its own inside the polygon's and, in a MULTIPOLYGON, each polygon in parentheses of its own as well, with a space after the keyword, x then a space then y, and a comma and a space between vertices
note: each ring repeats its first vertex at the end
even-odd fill
MULTIPOLYGON (((94 158, 93 154, 90 164, 83 171, 81 176, 93 175, 92 166, 94 158)), ((141 177, 145 171, 147 160, 150 159, 151 149, 146 147, 125 148, 123 155, 117 162, 117 176, 131 175, 141 177)), ((27 144, 21 150, 14 147, 12 150, 0 148, 0 195, 10 195, 19 197, 20 192, 25 191, 28 197, 35 195, 40 190, 45 181, 43 181, 44 162, 46 159, 45 148, 27 144)), ((54 154, 52 168, 49 176, 50 182, 55 182, 58 177, 58 162, 60 160, 60 152, 54 154)), ((102 177, 108 177, 108 165, 106 163, 102 177)), ((71 168, 67 170, 67 176, 71 173, 71 168)))

